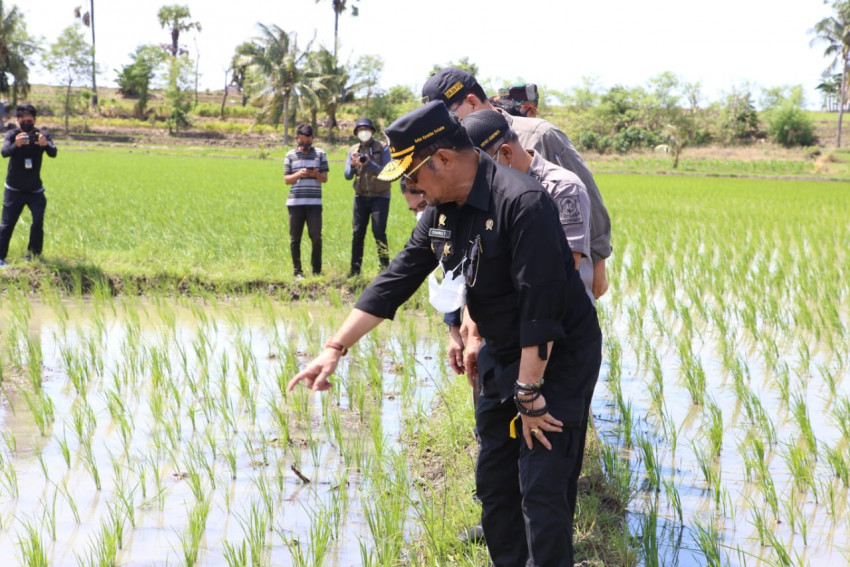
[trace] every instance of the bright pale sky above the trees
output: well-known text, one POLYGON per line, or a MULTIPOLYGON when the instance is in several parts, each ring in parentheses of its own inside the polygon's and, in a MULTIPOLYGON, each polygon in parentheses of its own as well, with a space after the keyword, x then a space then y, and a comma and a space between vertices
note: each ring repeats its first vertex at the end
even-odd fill
MULTIPOLYGON (((5 0, 24 12, 30 34, 52 42, 73 23, 73 8, 89 0, 5 0)), ((351 4, 353 0, 349 0, 351 4)), ((166 43, 161 0, 95 0, 98 82, 114 85, 115 69, 142 43, 166 43)), ((201 86, 219 89, 238 43, 257 22, 333 43, 331 0, 184 0, 203 31, 181 36, 200 53, 201 86)), ((699 81, 707 100, 749 82, 756 87, 801 84, 808 106, 827 65, 809 30, 831 13, 822 0, 360 0, 360 15, 340 18, 340 55, 384 60, 382 86, 419 92, 435 63, 468 56, 479 79, 518 78, 566 91, 593 77, 601 87, 638 86, 663 71, 699 81)), ((34 82, 50 82, 37 69, 34 82)))

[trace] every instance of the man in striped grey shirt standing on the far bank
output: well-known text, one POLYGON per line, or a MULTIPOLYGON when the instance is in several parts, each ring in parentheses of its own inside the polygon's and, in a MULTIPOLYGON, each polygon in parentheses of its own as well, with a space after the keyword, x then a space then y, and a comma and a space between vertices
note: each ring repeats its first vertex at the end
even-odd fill
POLYGON ((310 263, 313 275, 322 273, 322 183, 328 181, 328 156, 313 146, 313 127, 299 124, 295 131, 298 147, 289 150, 284 159, 283 180, 292 185, 286 207, 289 209, 289 251, 296 278, 301 270, 301 236, 304 224, 312 244, 310 263))

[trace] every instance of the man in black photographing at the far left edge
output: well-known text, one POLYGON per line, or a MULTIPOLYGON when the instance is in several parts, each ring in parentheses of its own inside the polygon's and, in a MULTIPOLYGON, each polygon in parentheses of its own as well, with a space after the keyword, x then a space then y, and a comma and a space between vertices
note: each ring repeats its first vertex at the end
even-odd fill
POLYGON ((38 258, 44 243, 44 210, 47 198, 41 183, 41 160, 46 153, 56 157, 56 146, 50 134, 35 127, 36 110, 31 104, 15 109, 18 128, 6 133, 2 154, 9 158, 6 191, 3 194, 3 215, 0 220, 0 268, 8 266, 6 254, 18 218, 29 207, 32 213, 27 260, 38 258))

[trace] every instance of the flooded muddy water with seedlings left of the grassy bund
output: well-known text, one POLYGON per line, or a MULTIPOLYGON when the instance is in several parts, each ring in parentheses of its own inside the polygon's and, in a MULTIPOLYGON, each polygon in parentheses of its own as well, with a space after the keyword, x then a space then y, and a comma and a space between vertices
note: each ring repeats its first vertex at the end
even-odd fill
MULTIPOLYGON (((323 564, 362 563, 361 547, 373 547, 363 503, 378 495, 361 465, 379 461, 357 455, 374 452, 374 427, 384 453, 397 451, 405 420, 429 407, 445 375, 444 345, 426 337, 442 333, 400 314, 348 357, 333 395, 284 396, 294 366, 346 312, 257 303, 52 301, 29 314, 3 304, 4 565, 25 564, 27 542, 38 538, 51 565, 110 556, 119 565, 186 564, 199 502, 209 510, 197 564, 228 565, 226 544, 243 542, 250 563, 252 538, 264 564, 297 564, 298 555, 314 564, 314 542, 323 541, 315 534, 328 524, 323 564), (41 410, 24 393, 38 365, 33 351, 53 414, 43 434, 34 418, 41 410), (368 382, 370 357, 383 391, 364 386, 367 421, 350 409, 360 402, 349 384, 368 382), (326 429, 325 412, 339 418, 343 441, 326 429), (121 541, 114 553, 111 539, 121 541)), ((408 537, 410 524, 400 527, 408 537)))

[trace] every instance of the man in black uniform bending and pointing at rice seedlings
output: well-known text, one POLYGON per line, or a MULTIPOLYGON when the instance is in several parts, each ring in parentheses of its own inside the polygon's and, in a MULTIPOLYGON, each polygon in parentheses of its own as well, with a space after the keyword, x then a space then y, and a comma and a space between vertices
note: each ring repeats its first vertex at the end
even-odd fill
POLYGON ((288 387, 303 381, 329 389, 339 358, 392 318, 432 270, 442 265, 443 282, 459 274, 484 339, 476 484, 490 557, 497 566, 572 567, 576 483, 601 336, 555 204, 530 176, 475 150, 442 101, 386 132, 395 161, 382 177, 404 176, 430 206, 288 387))

